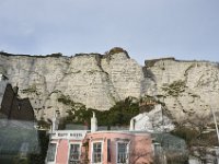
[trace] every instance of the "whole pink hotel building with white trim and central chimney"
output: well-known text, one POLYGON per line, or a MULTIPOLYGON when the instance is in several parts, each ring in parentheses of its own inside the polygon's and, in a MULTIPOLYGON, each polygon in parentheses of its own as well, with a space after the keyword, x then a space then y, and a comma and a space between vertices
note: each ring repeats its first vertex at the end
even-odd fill
POLYGON ((150 164, 153 144, 142 131, 56 130, 50 136, 47 164, 150 164))

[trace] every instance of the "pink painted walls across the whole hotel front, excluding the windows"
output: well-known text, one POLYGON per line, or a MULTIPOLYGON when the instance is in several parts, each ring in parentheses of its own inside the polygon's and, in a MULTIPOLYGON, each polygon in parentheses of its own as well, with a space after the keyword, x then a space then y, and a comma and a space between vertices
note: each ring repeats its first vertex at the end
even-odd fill
MULTIPOLYGON (((55 141, 55 140, 53 140, 55 141)), ((118 132, 118 131, 96 131, 87 133, 83 141, 59 139, 56 140, 57 156, 56 164, 68 164, 69 144, 71 142, 81 143, 81 162, 85 163, 88 156, 91 163, 92 159, 92 143, 103 143, 103 164, 116 164, 116 145, 118 141, 126 141, 129 143, 129 164, 149 164, 152 162, 152 140, 147 133, 118 132), (107 162, 107 140, 111 140, 111 162, 107 162), (84 147, 88 143, 88 147, 84 147), (88 151, 85 150, 88 148, 88 151)))

